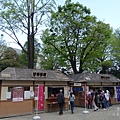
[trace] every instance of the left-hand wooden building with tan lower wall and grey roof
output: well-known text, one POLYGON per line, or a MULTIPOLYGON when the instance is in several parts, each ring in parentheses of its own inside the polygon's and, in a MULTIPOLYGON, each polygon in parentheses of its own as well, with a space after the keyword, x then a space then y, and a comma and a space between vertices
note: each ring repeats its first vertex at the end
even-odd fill
POLYGON ((64 91, 64 110, 68 110, 70 81, 66 75, 54 70, 6 68, 0 73, 0 117, 31 114, 41 104, 37 102, 39 98, 43 102, 40 110, 58 111, 60 89, 64 91))

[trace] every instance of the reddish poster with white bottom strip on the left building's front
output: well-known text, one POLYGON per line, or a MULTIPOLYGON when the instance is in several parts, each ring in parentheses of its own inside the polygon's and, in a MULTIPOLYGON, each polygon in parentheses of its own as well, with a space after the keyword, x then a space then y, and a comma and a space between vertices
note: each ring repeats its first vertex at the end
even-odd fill
POLYGON ((14 87, 13 88, 12 101, 13 102, 23 101, 23 88, 22 87, 14 87))

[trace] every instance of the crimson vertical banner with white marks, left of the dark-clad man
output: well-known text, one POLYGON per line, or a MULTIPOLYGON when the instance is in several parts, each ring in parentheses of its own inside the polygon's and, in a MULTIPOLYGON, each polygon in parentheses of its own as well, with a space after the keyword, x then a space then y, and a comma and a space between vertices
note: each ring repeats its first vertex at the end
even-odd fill
POLYGON ((44 86, 38 86, 38 110, 44 110, 44 86))

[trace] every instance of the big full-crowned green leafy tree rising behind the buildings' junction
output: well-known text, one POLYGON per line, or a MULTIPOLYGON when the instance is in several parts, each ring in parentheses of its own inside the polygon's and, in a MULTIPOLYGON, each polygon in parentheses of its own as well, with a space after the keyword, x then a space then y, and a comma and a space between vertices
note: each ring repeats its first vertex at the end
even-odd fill
POLYGON ((93 69, 94 63, 99 64, 111 37, 109 24, 97 21, 90 14, 86 6, 66 0, 65 5, 52 14, 51 29, 42 37, 43 43, 52 48, 59 65, 64 63, 75 74, 93 69))

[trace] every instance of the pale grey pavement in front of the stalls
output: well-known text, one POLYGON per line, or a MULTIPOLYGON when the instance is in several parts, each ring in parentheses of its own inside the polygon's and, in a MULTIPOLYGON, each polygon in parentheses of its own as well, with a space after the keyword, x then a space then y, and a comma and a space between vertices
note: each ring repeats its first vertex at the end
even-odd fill
MULTIPOLYGON (((109 110, 87 110, 89 114, 82 113, 84 108, 75 107, 74 114, 71 114, 69 110, 64 111, 62 116, 59 116, 58 112, 41 113, 39 116, 41 120, 120 120, 120 104, 111 106, 109 110)), ((33 115, 10 117, 1 120, 33 120, 33 115)))

